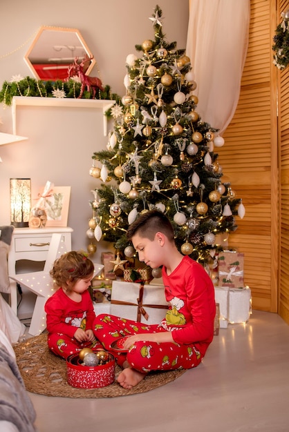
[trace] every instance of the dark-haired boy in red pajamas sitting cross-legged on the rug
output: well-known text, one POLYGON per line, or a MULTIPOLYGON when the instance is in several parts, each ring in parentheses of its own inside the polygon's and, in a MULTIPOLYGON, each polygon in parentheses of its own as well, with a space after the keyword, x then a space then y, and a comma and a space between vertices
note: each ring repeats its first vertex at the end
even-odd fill
POLYGON ((127 230, 140 261, 162 266, 169 310, 160 324, 145 325, 113 315, 98 315, 95 336, 109 351, 116 337, 129 350, 118 375, 124 389, 136 386, 149 371, 190 369, 198 366, 213 340, 216 304, 214 286, 201 264, 183 256, 174 242, 169 219, 151 210, 127 230))

